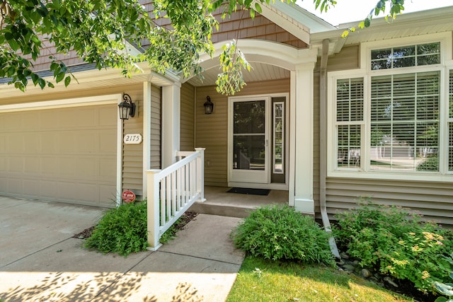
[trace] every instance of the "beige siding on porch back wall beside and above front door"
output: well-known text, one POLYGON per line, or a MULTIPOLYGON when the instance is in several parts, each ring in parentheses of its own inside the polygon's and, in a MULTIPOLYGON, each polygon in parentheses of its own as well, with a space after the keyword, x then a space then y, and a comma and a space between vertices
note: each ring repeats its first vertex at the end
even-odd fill
MULTIPOLYGON (((247 83, 234 96, 289 93, 289 79, 247 83)), ((214 86, 197 87, 195 147, 206 148, 205 185, 226 187, 228 158, 228 97, 219 95, 214 86), (205 115, 203 104, 209 95, 214 103, 212 115, 205 115)))

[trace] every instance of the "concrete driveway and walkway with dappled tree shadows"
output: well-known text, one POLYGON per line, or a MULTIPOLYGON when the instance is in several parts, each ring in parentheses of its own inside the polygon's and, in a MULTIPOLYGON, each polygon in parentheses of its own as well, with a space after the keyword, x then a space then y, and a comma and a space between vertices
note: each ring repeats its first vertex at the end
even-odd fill
POLYGON ((102 255, 74 234, 103 209, 0 197, 4 301, 225 301, 243 253, 229 233, 240 219, 199 214, 156 252, 102 255))

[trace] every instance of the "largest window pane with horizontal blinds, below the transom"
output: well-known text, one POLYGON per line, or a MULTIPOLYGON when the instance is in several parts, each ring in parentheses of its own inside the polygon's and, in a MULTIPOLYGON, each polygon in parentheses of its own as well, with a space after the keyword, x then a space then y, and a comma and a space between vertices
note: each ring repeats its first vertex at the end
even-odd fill
POLYGON ((439 170, 440 72, 374 76, 371 170, 439 170))

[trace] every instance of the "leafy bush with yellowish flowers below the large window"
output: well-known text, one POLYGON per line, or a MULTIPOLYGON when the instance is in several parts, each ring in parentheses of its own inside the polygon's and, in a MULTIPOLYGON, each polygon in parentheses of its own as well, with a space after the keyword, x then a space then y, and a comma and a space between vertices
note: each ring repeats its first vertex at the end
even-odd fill
POLYGON ((336 216, 333 233, 340 247, 362 267, 412 281, 420 291, 432 291, 433 281, 446 281, 452 232, 400 207, 371 202, 336 216))

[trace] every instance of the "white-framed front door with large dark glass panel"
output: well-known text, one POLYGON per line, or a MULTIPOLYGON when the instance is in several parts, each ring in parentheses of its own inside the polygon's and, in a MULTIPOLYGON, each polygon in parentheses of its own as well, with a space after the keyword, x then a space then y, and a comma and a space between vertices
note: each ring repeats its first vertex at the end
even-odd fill
POLYGON ((270 98, 231 98, 229 115, 229 182, 270 182, 270 98))

